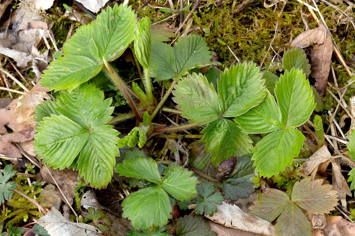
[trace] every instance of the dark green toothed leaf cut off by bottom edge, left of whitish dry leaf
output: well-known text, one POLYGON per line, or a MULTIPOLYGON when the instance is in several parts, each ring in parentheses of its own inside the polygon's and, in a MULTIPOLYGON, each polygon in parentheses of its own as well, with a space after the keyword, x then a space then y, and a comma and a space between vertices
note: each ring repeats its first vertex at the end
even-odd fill
POLYGON ((185 215, 176 225, 176 236, 215 236, 209 224, 199 215, 185 215))

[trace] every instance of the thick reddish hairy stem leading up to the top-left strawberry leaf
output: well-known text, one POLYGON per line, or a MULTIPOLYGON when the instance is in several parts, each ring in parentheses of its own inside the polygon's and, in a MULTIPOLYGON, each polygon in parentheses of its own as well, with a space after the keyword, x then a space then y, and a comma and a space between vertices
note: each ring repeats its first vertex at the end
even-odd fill
POLYGON ((111 68, 110 64, 106 61, 105 58, 103 58, 104 61, 104 67, 103 70, 110 76, 110 78, 113 80, 113 82, 116 84, 116 86, 120 89, 120 91, 124 94, 126 97, 127 102, 130 104, 133 113, 136 115, 137 119, 139 122, 143 122, 143 118, 141 113, 139 112, 136 103, 132 100, 131 95, 128 93, 126 87, 124 86, 124 81, 121 79, 121 77, 111 68))

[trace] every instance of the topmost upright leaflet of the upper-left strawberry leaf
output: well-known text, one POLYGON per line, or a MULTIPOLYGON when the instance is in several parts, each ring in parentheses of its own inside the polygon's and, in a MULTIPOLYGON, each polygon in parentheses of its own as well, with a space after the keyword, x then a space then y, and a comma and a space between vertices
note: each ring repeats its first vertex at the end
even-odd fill
POLYGON ((133 41, 136 14, 131 6, 115 4, 97 16, 92 23, 92 38, 100 60, 108 62, 120 57, 133 41))

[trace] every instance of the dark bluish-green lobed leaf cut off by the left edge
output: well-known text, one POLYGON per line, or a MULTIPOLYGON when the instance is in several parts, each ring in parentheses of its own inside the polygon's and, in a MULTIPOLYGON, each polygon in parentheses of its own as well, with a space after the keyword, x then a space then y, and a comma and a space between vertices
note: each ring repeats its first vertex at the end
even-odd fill
POLYGON ((16 174, 16 171, 12 171, 12 165, 7 165, 4 168, 4 173, 0 173, 0 202, 4 203, 5 200, 12 199, 13 191, 16 189, 16 184, 13 181, 9 181, 12 176, 16 174))

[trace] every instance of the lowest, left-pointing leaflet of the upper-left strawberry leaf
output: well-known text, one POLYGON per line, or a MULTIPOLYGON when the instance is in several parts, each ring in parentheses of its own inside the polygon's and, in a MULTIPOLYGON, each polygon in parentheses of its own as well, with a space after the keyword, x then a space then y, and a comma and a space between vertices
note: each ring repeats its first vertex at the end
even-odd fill
POLYGON ((90 58, 67 55, 51 62, 43 71, 39 82, 42 87, 49 88, 49 91, 71 91, 97 75, 101 69, 102 65, 90 58))

